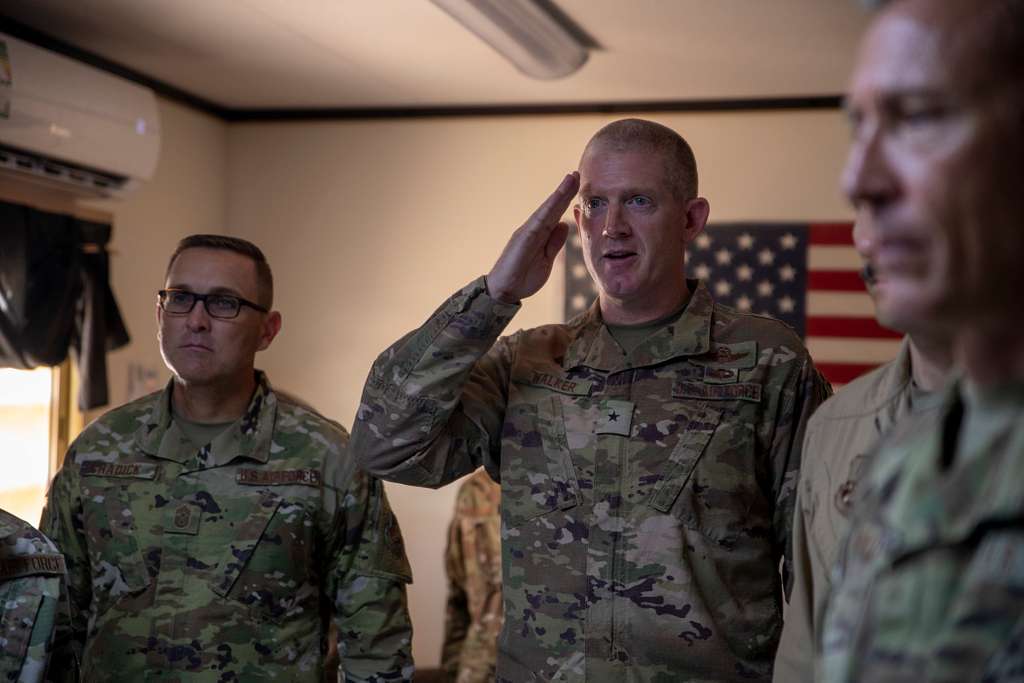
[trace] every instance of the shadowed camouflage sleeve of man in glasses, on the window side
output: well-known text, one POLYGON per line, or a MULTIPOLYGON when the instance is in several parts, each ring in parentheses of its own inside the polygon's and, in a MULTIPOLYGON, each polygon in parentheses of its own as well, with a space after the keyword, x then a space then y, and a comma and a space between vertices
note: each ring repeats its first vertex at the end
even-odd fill
POLYGON ((49 678, 54 681, 77 679, 78 663, 89 623, 92 601, 92 577, 82 520, 74 446, 65 458, 46 495, 40 530, 63 554, 68 569, 68 602, 60 605, 50 657, 49 678))

